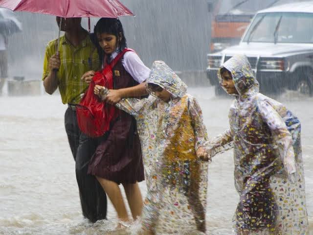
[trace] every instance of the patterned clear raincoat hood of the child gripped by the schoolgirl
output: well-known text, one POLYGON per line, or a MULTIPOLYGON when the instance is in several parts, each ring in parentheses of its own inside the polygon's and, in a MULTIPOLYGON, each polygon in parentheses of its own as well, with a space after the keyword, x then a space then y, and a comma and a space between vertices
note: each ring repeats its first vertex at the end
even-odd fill
MULTIPOLYGON (((146 80, 146 88, 148 91, 149 83, 162 87, 171 93, 173 98, 180 98, 187 93, 187 85, 181 81, 179 76, 163 61, 155 61, 153 63, 149 78, 146 80)), ((149 93, 151 92, 149 91, 149 93)))

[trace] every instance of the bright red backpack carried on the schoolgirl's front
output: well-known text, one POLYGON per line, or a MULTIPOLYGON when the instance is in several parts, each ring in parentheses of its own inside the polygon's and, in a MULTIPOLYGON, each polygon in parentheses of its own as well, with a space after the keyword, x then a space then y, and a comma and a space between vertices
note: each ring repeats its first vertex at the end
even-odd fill
POLYGON ((111 120, 117 118, 115 106, 101 101, 101 98, 93 93, 93 89, 95 85, 104 86, 109 90, 113 89, 112 68, 127 51, 134 52, 132 49, 125 48, 102 71, 95 72, 87 92, 76 106, 78 126, 89 137, 103 136, 110 129, 111 120))

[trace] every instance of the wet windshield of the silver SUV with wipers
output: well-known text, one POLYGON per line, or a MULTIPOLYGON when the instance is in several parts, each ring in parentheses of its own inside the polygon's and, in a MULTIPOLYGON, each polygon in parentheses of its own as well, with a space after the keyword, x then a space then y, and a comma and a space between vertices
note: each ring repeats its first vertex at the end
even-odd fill
POLYGON ((261 13, 256 15, 244 42, 313 43, 313 14, 261 13))

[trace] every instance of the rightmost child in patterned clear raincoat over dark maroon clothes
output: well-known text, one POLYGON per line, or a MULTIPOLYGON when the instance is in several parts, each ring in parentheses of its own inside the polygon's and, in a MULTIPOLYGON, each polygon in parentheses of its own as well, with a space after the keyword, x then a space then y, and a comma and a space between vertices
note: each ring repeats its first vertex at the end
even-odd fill
POLYGON ((237 55, 218 71, 235 95, 230 129, 210 141, 211 157, 234 148, 233 217, 237 235, 309 235, 301 156, 300 121, 281 103, 259 93, 247 57, 237 55))

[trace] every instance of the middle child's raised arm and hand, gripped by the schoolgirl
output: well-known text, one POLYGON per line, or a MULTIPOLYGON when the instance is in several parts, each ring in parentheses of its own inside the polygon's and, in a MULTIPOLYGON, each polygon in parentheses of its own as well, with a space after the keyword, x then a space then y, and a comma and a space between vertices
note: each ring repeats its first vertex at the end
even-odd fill
MULTIPOLYGON (((104 100, 106 95, 109 94, 109 90, 106 87, 96 85, 94 87, 94 94, 101 97, 101 100, 104 100)), ((156 98, 152 96, 144 99, 123 98, 118 103, 116 103, 115 106, 118 109, 121 109, 126 113, 134 116, 134 118, 137 118, 143 106, 150 102, 153 103, 155 99, 156 98)))

